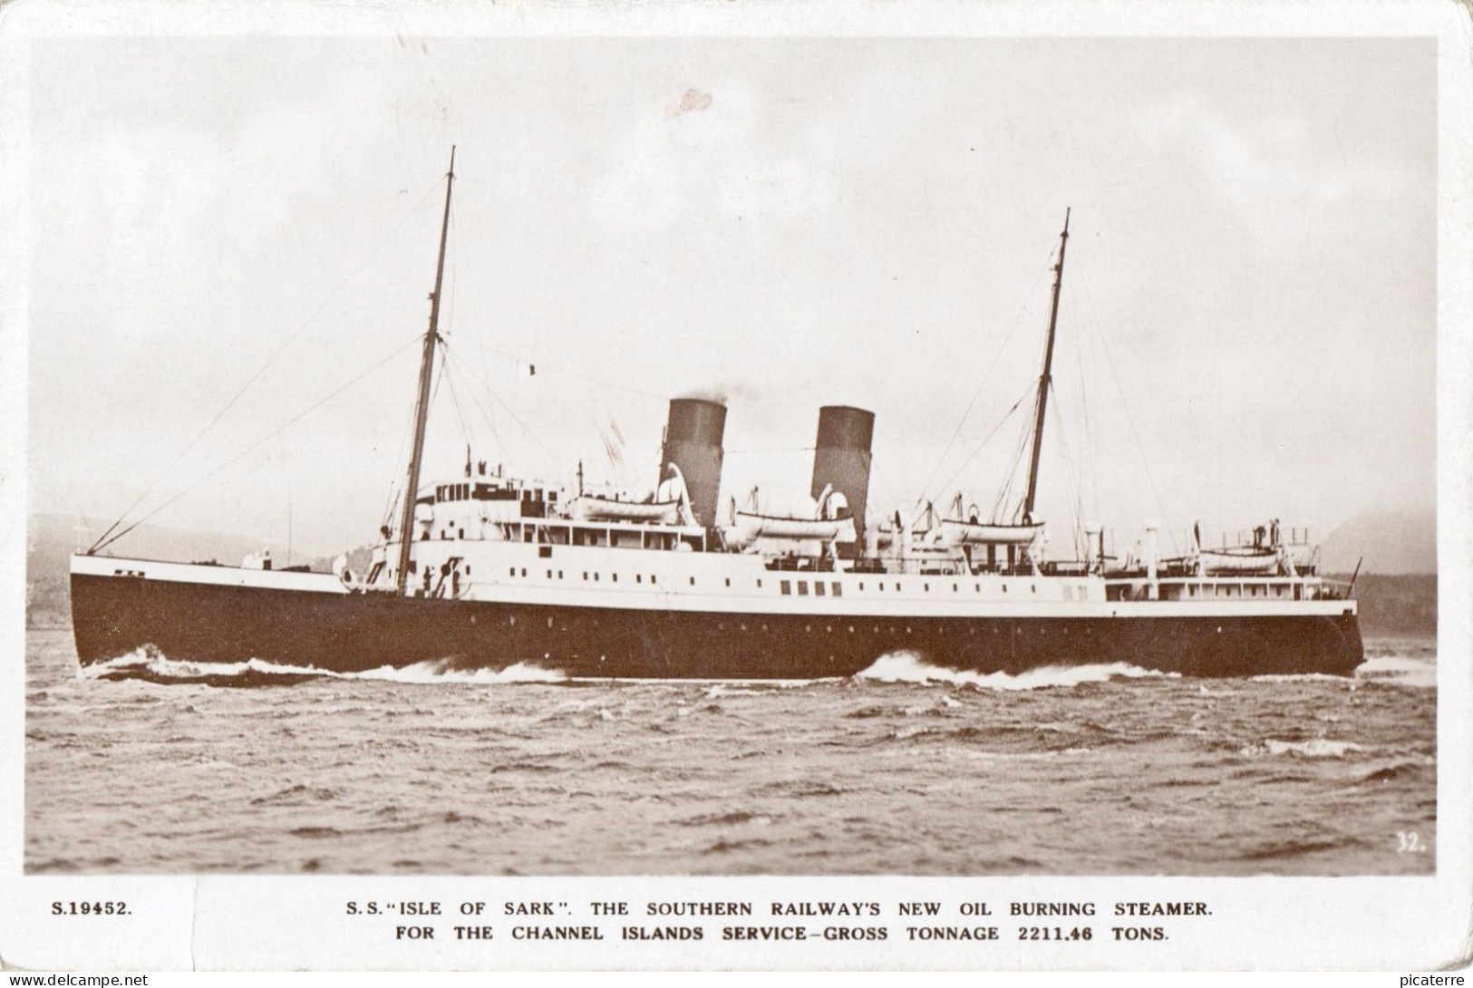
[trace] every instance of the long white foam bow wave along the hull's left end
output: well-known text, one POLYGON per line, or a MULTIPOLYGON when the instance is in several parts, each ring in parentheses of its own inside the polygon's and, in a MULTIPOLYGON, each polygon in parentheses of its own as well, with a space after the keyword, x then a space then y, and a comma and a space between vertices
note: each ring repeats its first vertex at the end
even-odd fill
POLYGON ((371 679, 395 683, 557 683, 567 677, 555 668, 544 668, 529 663, 513 663, 505 668, 451 668, 449 660, 432 660, 412 666, 380 666, 359 673, 339 673, 315 666, 287 666, 250 658, 243 663, 196 663, 168 658, 156 649, 138 648, 125 655, 103 663, 84 666, 80 674, 85 679, 100 679, 115 673, 144 668, 153 676, 166 679, 202 679, 205 676, 321 676, 326 679, 371 679))

